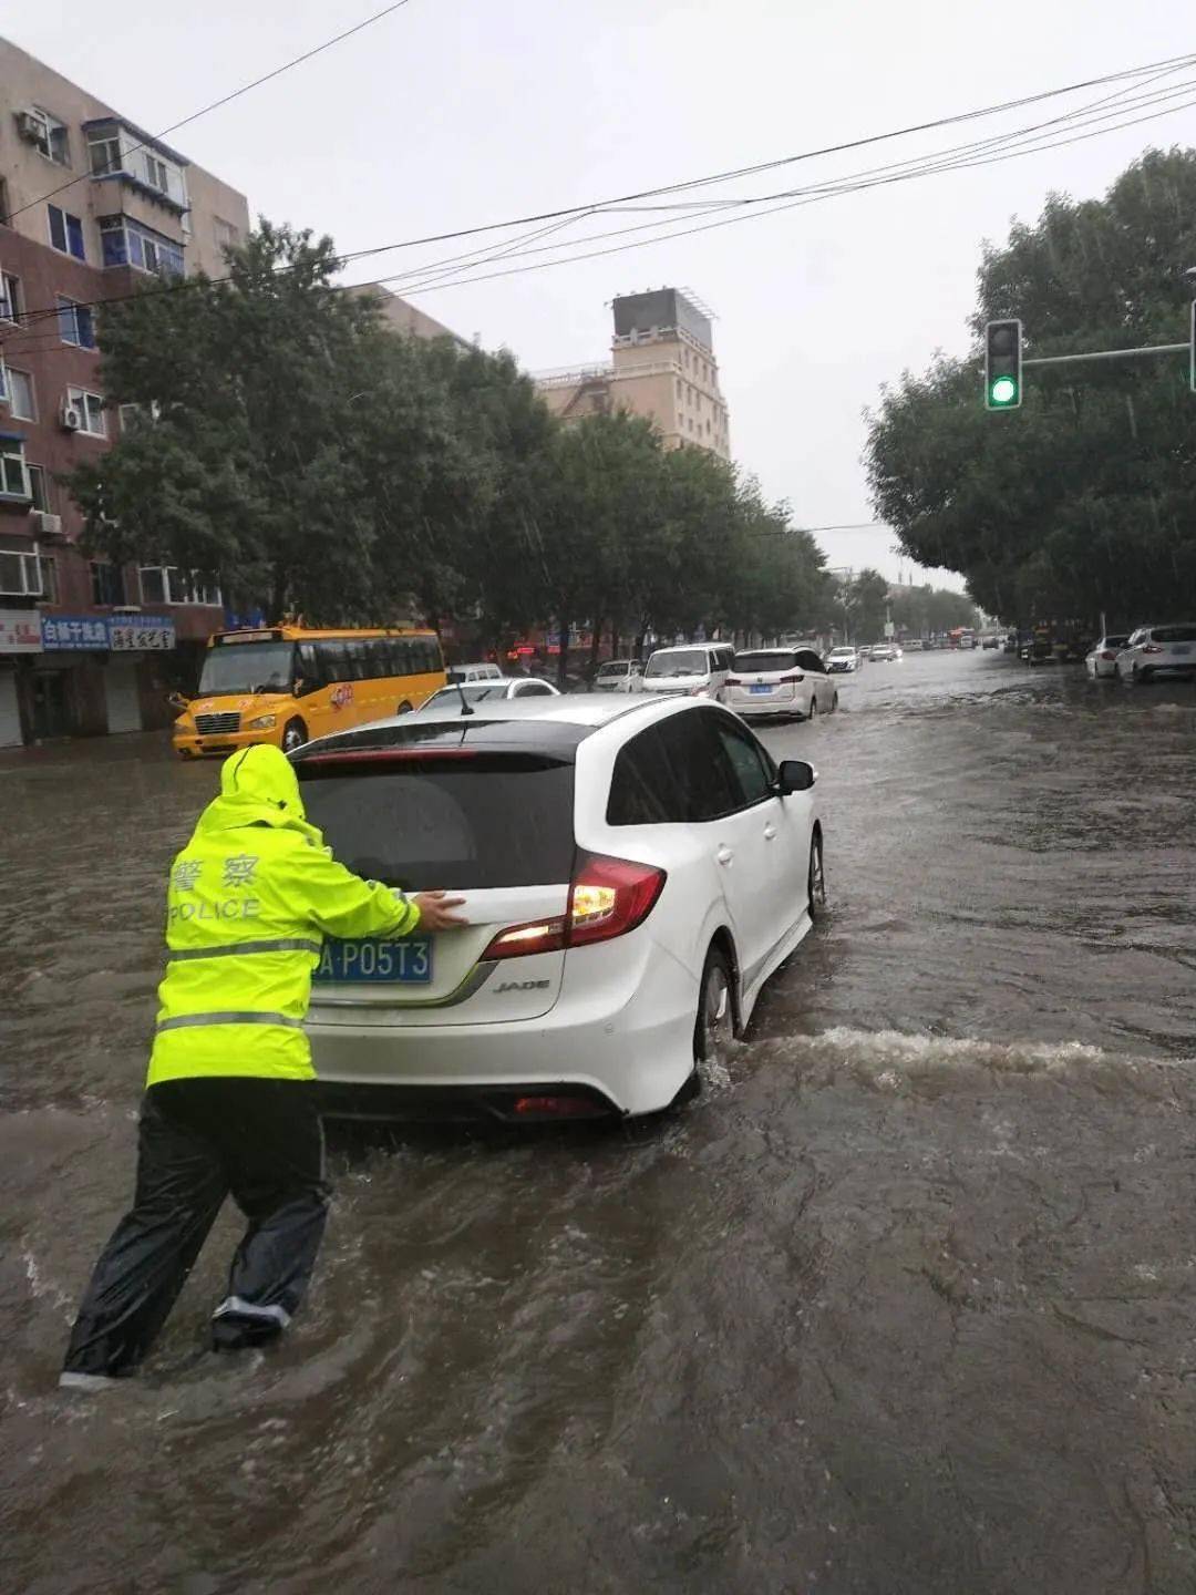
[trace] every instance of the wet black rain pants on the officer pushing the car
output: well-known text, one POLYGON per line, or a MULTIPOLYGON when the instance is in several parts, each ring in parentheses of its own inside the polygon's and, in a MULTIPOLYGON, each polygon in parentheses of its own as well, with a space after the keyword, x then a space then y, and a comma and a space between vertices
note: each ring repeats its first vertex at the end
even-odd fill
POLYGON ((142 1097, 137 1188, 91 1276, 64 1372, 131 1373, 175 1303, 225 1198, 249 1219, 212 1317, 217 1349, 290 1322, 316 1263, 329 1188, 305 1080, 166 1080, 142 1097))

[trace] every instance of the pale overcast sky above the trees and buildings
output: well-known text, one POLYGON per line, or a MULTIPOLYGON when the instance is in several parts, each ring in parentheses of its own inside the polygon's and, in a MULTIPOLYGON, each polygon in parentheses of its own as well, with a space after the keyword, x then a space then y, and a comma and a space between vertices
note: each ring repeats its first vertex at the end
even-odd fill
MULTIPOLYGON (((10 11, 3 29, 159 131, 381 3, 121 0, 113 22, 78 0, 40 0, 10 11)), ((252 212, 354 250, 749 166, 1178 56, 1196 48, 1190 18, 1178 0, 410 0, 171 142, 244 190, 252 212)), ((839 179, 1009 132, 1110 89, 716 191, 839 179)), ((689 287, 716 314, 735 458, 805 525, 869 522, 863 410, 903 367, 920 370, 936 348, 966 348, 982 239, 1003 238, 1014 215, 1032 220, 1051 190, 1100 195, 1148 144, 1194 136, 1196 112, 1180 110, 1070 148, 411 298, 534 372, 601 360, 616 293, 689 287)), ((651 219, 590 219, 544 242, 651 219)), ((512 236, 494 234, 493 247, 512 236)), ((485 242, 397 250, 346 276, 407 273, 485 242)), ((392 286, 403 292, 402 281, 392 286)), ((820 541, 831 565, 898 574, 883 530, 820 541)))

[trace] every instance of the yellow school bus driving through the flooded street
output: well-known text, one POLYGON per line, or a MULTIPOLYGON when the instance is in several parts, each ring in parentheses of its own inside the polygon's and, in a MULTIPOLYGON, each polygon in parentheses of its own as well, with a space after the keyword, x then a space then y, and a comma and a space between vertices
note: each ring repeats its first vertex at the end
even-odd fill
POLYGON ((217 632, 199 694, 174 723, 183 758, 271 742, 284 753, 368 719, 407 715, 445 684, 435 632, 309 630, 269 625, 217 632))

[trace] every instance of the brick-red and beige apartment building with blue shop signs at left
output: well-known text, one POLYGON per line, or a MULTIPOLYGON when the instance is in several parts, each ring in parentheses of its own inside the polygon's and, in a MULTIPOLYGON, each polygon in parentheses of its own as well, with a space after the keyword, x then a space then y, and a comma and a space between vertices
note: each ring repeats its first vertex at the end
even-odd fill
POLYGON ((218 276, 247 230, 244 195, 0 40, 0 746, 167 724, 222 624, 191 573, 85 558, 61 477, 121 426, 96 306, 218 276))

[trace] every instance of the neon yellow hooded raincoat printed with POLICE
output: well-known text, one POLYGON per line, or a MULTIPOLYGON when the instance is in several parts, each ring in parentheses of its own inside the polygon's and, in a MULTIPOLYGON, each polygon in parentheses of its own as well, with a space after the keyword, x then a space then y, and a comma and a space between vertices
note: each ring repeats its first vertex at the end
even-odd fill
POLYGON ((303 1019, 324 935, 403 936, 419 909, 362 880, 308 825, 277 748, 234 753, 171 868, 166 978, 147 1085, 196 1075, 309 1080, 303 1019))

